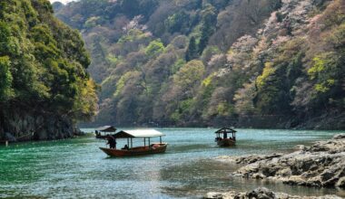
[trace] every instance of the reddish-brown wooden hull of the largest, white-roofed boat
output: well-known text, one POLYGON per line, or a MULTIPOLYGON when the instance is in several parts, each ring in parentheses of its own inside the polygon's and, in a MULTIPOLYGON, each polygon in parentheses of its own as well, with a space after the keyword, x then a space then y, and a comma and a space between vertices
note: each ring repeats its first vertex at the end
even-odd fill
POLYGON ((108 156, 122 157, 122 156, 144 156, 144 155, 153 155, 164 153, 167 147, 167 144, 155 144, 159 147, 133 147, 129 150, 120 150, 113 148, 104 148, 100 149, 108 156))

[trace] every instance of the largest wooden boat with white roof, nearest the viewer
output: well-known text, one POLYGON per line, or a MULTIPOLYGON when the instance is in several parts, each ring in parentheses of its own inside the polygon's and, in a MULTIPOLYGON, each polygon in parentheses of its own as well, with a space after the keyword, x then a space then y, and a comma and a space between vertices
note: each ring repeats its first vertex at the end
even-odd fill
POLYGON ((167 143, 162 142, 163 133, 154 129, 137 129, 137 130, 122 130, 113 137, 115 139, 123 138, 127 139, 126 147, 123 149, 116 148, 105 148, 100 147, 102 151, 108 156, 143 156, 150 154, 159 154, 164 153, 167 147, 167 143), (151 143, 153 137, 160 137, 159 143, 151 143), (133 139, 142 138, 143 146, 142 147, 133 147, 133 139))

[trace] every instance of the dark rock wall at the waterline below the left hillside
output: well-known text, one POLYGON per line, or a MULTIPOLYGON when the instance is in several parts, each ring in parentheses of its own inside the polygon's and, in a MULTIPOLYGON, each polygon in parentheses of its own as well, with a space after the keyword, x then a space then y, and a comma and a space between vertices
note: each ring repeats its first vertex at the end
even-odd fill
POLYGON ((42 110, 0 111, 0 139, 10 141, 53 140, 79 133, 72 119, 42 110))

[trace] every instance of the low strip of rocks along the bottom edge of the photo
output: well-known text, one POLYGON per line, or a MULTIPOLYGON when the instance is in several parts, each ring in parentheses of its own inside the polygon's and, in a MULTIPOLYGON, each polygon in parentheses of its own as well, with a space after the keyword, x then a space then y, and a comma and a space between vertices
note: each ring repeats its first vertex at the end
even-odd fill
POLYGON ((237 192, 228 192, 228 193, 208 193, 204 198, 217 198, 217 199, 251 199, 251 198, 279 198, 279 199, 338 199, 341 198, 337 195, 323 195, 323 196, 298 196, 290 195, 285 193, 274 193, 267 188, 257 188, 251 192, 237 193, 237 192))

